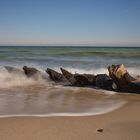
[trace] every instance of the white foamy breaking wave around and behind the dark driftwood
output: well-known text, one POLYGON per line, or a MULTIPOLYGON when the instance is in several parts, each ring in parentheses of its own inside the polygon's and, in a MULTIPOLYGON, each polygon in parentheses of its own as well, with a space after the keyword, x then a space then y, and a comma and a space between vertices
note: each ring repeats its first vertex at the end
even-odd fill
MULTIPOLYGON (((72 67, 64 67, 71 73, 88 73, 88 74, 108 74, 107 68, 90 68, 90 69, 79 69, 79 68, 72 68, 72 67)), ((10 88, 10 87, 20 87, 20 86, 31 86, 36 84, 45 84, 49 85, 52 82, 50 81, 47 73, 45 73, 45 70, 41 69, 40 67, 37 67, 42 74, 44 75, 45 79, 41 78, 38 80, 35 80, 33 78, 27 78, 24 74, 12 74, 6 71, 4 68, 0 68, 0 88, 10 88)), ((60 72, 60 67, 53 67, 54 70, 60 72)), ((139 68, 127 68, 128 72, 130 72, 131 75, 137 77, 139 73, 139 68)))

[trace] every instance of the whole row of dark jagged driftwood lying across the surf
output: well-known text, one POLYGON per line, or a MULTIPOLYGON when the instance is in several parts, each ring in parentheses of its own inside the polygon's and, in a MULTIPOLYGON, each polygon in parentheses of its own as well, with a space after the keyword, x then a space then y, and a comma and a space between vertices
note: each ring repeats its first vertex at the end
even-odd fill
MULTIPOLYGON (((41 77, 44 79, 44 75, 33 67, 24 66, 24 71, 11 66, 5 66, 5 69, 12 74, 22 74, 28 78, 38 79, 41 77)), ((109 76, 107 74, 72 74, 64 68, 60 68, 60 70, 62 73, 47 68, 46 72, 51 80, 62 82, 65 85, 93 86, 119 92, 140 93, 140 80, 138 81, 132 77, 123 64, 108 66, 109 76)))

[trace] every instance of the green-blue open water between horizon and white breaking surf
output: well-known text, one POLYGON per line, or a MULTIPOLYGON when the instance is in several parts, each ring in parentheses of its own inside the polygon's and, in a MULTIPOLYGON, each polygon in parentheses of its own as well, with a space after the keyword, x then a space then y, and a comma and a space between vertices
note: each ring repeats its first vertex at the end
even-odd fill
POLYGON ((71 67, 76 69, 104 68, 124 63, 140 67, 138 47, 70 47, 70 46, 1 46, 0 65, 71 67))

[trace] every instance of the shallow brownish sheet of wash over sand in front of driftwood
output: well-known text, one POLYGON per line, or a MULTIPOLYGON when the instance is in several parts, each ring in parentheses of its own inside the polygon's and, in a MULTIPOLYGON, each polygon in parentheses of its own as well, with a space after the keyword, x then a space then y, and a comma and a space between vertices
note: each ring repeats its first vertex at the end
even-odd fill
POLYGON ((50 84, 14 87, 0 91, 0 115, 96 115, 119 108, 120 95, 92 88, 50 84))

